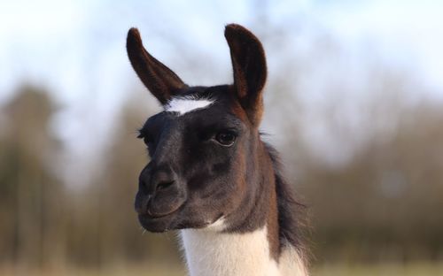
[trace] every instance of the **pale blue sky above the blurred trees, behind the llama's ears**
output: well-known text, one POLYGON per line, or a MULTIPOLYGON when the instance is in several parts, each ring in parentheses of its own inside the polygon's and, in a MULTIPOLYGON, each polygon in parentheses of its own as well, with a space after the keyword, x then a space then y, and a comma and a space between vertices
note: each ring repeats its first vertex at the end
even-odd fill
MULTIPOLYGON (((430 97, 443 99, 442 11, 438 0, 2 1, 0 103, 22 81, 49 88, 63 107, 55 130, 64 126, 58 132, 73 158, 89 154, 93 160, 90 149, 101 141, 92 141, 89 132, 105 137, 128 91, 143 90, 126 56, 128 28, 139 27, 146 47, 183 80, 210 85, 231 78, 222 35, 230 22, 251 27, 260 37, 284 30, 295 41, 292 49, 281 45, 286 55, 312 55, 309 50, 322 35, 353 63, 368 62, 366 53, 376 52, 386 65, 416 76, 430 97), (189 70, 193 66, 196 70, 189 70)), ((282 57, 268 52, 270 78, 280 65, 276 58, 282 57)), ((307 78, 305 88, 312 90, 307 95, 328 98, 315 94, 318 81, 307 78)), ((155 106, 152 98, 144 101, 155 106)))

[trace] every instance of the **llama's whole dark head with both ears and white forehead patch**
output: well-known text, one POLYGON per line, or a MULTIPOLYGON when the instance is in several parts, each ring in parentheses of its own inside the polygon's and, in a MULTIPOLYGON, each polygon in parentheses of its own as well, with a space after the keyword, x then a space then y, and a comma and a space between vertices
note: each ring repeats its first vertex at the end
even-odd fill
POLYGON ((151 161, 139 176, 136 211, 152 232, 204 228, 241 218, 242 203, 257 196, 253 169, 260 158, 262 90, 266 59, 260 41, 245 27, 225 29, 234 83, 190 87, 145 49, 135 28, 128 57, 164 111, 149 118, 139 138, 151 161))

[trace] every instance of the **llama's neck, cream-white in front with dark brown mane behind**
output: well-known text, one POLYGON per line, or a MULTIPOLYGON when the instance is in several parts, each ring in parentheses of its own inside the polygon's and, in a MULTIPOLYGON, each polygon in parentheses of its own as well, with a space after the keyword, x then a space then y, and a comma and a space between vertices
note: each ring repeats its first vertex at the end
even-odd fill
POLYGON ((248 168, 259 172, 252 180, 260 184, 259 188, 255 196, 248 197, 239 206, 241 211, 227 218, 229 228, 221 219, 204 229, 181 230, 190 276, 308 275, 294 239, 285 241, 286 238, 280 236, 288 234, 280 231, 283 229, 279 225, 281 218, 288 220, 285 221, 288 231, 299 230, 288 213, 280 218, 280 211, 294 211, 291 191, 276 174, 266 145, 260 143, 260 147, 265 157, 259 158, 256 167, 248 168), (279 210, 277 201, 282 201, 282 206, 288 210, 279 210))

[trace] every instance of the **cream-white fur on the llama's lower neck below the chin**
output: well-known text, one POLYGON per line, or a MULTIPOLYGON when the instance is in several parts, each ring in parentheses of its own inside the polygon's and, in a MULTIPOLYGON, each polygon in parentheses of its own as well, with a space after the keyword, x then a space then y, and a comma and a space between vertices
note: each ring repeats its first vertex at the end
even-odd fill
POLYGON ((245 234, 212 230, 181 231, 190 276, 307 275, 296 251, 282 255, 280 265, 270 257, 266 227, 245 234), (284 265, 285 267, 279 267, 284 265))

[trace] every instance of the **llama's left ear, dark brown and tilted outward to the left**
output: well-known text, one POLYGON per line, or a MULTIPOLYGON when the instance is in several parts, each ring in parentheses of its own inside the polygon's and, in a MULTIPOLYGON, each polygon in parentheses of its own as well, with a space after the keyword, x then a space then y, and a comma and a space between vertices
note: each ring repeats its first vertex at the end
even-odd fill
POLYGON ((176 95, 180 89, 187 87, 171 69, 153 58, 144 49, 140 33, 135 27, 128 31, 126 49, 131 65, 138 77, 160 103, 166 104, 171 96, 176 95))

